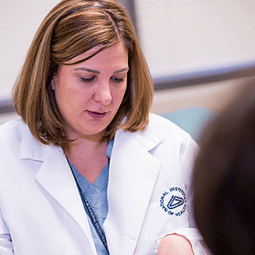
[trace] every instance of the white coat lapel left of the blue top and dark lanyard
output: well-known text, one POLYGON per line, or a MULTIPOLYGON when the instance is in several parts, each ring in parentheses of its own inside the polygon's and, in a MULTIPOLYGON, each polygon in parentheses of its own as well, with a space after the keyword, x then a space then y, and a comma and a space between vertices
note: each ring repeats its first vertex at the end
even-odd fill
MULTIPOLYGON (((85 210, 63 150, 60 147, 40 144, 30 133, 25 133, 21 142, 20 157, 42 162, 35 177, 36 181, 70 214, 92 244, 85 210)), ((94 252, 88 251, 88 254, 96 254, 93 245, 92 250, 94 252)))

